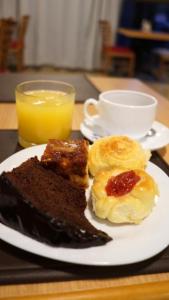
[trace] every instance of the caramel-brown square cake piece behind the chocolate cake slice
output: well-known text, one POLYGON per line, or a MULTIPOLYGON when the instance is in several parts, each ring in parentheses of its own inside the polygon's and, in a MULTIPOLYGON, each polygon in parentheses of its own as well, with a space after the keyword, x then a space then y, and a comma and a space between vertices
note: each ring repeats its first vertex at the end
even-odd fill
POLYGON ((70 179, 80 187, 88 186, 88 142, 86 140, 49 140, 41 162, 43 166, 70 179))

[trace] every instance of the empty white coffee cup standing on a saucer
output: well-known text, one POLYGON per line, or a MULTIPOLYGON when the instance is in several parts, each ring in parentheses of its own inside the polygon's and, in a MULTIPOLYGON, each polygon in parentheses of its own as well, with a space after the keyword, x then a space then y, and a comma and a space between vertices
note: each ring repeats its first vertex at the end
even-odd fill
POLYGON ((87 99, 84 103, 84 122, 101 135, 127 135, 143 138, 155 120, 157 100, 137 91, 112 90, 99 95, 99 100, 87 99), (89 114, 89 105, 98 114, 89 114))

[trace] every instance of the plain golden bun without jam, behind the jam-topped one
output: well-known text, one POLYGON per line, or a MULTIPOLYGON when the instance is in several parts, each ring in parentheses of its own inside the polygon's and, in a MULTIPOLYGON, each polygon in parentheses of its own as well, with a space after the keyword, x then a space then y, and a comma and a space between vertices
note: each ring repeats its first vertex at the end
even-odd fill
POLYGON ((126 136, 109 136, 98 139, 89 150, 89 171, 95 176, 108 168, 144 169, 151 156, 139 142, 126 136))

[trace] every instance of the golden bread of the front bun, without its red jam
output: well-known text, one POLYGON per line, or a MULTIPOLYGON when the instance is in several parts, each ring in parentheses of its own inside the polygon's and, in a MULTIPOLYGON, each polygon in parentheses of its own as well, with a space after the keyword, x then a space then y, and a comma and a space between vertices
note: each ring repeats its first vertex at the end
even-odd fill
POLYGON ((132 190, 123 196, 108 196, 105 189, 108 180, 125 171, 112 169, 97 173, 92 186, 93 209, 97 217, 110 222, 138 224, 151 213, 158 187, 146 171, 135 169, 140 180, 132 190))

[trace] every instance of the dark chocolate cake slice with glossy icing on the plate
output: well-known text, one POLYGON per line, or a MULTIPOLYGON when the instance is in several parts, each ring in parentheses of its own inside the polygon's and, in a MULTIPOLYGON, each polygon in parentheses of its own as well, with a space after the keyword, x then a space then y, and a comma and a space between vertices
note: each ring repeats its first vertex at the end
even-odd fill
POLYGON ((0 176, 0 221, 53 246, 84 248, 111 240, 84 215, 85 190, 36 157, 0 176))

